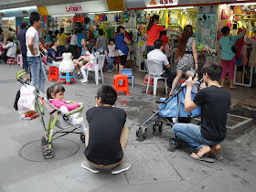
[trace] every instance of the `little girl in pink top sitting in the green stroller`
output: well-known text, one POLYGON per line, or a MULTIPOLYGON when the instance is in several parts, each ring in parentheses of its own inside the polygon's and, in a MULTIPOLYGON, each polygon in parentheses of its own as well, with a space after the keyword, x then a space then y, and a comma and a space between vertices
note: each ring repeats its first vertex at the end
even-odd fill
MULTIPOLYGON (((82 102, 76 102, 72 103, 73 101, 63 101, 65 88, 60 85, 59 83, 56 83, 52 85, 51 87, 48 87, 48 101, 53 106, 59 109, 60 112, 67 113, 70 111, 73 111, 80 107, 82 102)), ((72 115, 69 115, 69 121, 71 124, 80 124, 80 130, 83 133, 86 133, 86 128, 83 123, 83 117, 78 117, 79 112, 74 113, 72 115)), ((59 118, 59 121, 64 121, 62 118, 59 118)))

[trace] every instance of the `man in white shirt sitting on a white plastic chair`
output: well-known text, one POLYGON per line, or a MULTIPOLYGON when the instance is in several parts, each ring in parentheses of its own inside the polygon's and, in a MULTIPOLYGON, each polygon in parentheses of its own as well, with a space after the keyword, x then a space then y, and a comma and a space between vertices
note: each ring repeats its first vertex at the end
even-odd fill
POLYGON ((155 60, 159 64, 163 64, 165 72, 161 75, 167 78, 167 85, 169 88, 172 87, 173 80, 176 78, 176 72, 171 71, 169 61, 163 52, 163 40, 156 39, 154 43, 155 49, 147 54, 147 59, 155 60))

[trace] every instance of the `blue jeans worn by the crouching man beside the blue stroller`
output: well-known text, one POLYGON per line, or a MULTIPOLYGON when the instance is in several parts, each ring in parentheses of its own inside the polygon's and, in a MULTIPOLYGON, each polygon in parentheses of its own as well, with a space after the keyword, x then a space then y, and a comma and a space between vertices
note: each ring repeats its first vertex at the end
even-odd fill
POLYGON ((220 144, 224 141, 211 142, 206 140, 201 135, 201 126, 192 123, 176 123, 173 126, 173 133, 196 150, 199 150, 204 145, 220 144))

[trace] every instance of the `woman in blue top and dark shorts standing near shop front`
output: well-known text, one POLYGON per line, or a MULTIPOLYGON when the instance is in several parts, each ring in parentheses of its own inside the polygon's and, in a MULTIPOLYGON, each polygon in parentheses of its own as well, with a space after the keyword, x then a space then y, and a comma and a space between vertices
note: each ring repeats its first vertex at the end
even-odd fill
POLYGON ((125 37, 125 29, 123 26, 117 27, 117 34, 115 36, 115 44, 116 49, 120 58, 120 64, 119 64, 119 74, 122 74, 123 66, 126 62, 129 48, 126 44, 131 44, 131 41, 128 40, 127 37, 125 37))

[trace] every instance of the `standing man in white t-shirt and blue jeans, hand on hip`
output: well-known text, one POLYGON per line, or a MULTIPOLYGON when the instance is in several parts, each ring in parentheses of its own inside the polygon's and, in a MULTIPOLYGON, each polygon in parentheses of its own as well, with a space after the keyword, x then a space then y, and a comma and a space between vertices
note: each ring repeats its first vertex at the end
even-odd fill
POLYGON ((46 73, 43 69, 40 52, 39 52, 39 37, 37 30, 42 27, 42 17, 37 12, 32 12, 29 16, 31 27, 27 29, 26 46, 27 46, 27 64, 31 70, 31 85, 37 87, 39 91, 44 92, 46 73))

